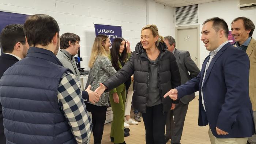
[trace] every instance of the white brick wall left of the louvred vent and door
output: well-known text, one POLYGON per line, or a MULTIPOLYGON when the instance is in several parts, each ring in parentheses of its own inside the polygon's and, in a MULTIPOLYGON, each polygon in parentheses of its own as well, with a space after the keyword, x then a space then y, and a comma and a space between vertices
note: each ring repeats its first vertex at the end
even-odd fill
MULTIPOLYGON (((123 37, 131 42, 131 49, 140 41, 140 30, 146 26, 146 0, 1 0, 0 10, 25 14, 47 14, 57 20, 60 34, 75 33, 81 38, 82 67, 87 67, 95 38, 94 24, 121 25, 123 37)), ((173 8, 163 9, 156 3, 159 33, 173 35, 173 8), (171 13, 171 14, 169 14, 171 13), (162 19, 165 18, 165 19, 162 19)))

